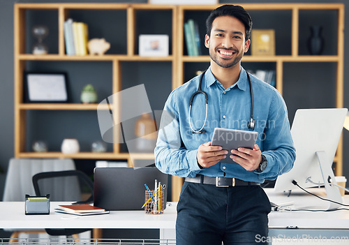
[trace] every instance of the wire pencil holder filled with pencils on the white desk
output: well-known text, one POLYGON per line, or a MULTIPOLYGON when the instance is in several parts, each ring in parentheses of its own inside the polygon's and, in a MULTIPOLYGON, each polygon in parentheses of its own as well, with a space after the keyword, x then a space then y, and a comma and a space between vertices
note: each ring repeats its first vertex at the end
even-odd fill
POLYGON ((163 214, 163 191, 145 191, 145 214, 163 214))

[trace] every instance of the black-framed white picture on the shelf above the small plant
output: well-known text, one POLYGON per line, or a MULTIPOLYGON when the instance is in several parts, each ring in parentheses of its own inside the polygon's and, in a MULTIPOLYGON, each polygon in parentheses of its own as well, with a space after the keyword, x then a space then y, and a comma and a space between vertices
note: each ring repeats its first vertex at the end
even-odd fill
POLYGON ((24 73, 27 102, 67 102, 66 73, 24 73))

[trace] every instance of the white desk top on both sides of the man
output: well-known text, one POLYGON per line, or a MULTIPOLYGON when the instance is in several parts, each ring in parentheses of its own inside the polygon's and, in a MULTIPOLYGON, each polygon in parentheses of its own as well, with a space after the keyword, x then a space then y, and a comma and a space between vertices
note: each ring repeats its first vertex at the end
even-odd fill
MULTIPOLYGON (((289 198, 266 189, 272 202, 293 200, 295 208, 327 207, 327 202, 311 195, 295 193, 289 198)), ((322 191, 316 191, 322 193, 322 191)), ((322 196, 325 197, 325 195, 322 196)), ((344 198, 349 203, 349 196, 344 198)), ((111 211, 110 214, 74 216, 53 211, 64 202, 51 202, 50 215, 25 215, 24 202, 0 202, 0 228, 160 228, 174 229, 177 217, 175 202, 165 209, 164 214, 144 214, 144 211, 111 211)), ((323 228, 349 229, 349 211, 282 211, 269 214, 269 228, 323 228)))

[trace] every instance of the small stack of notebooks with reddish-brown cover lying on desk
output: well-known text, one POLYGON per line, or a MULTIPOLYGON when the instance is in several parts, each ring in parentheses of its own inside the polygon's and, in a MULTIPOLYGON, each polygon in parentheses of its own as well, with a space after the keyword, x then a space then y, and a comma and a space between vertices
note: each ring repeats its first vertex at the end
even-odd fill
POLYGON ((109 214, 110 211, 94 207, 92 205, 59 205, 57 209, 54 209, 57 213, 74 214, 74 215, 94 215, 94 214, 109 214))

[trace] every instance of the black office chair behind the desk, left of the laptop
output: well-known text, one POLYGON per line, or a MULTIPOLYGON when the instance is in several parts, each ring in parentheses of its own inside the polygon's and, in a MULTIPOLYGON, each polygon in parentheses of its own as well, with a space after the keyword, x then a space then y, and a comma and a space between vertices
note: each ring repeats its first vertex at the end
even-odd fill
MULTIPOLYGON (((94 201, 94 183, 84 172, 79 170, 40 172, 32 178, 36 195, 50 194, 52 202, 74 202, 88 204, 94 201)), ((45 229, 53 236, 71 237, 92 229, 45 229)))

